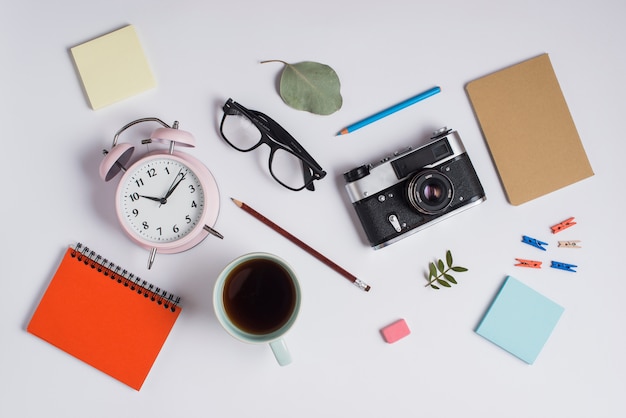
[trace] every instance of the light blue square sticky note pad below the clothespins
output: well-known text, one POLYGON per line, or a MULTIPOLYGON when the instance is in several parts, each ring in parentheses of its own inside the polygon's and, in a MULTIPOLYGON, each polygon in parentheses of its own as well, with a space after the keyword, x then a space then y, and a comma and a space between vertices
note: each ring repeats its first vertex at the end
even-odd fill
POLYGON ((509 276, 476 333, 533 364, 564 309, 509 276))

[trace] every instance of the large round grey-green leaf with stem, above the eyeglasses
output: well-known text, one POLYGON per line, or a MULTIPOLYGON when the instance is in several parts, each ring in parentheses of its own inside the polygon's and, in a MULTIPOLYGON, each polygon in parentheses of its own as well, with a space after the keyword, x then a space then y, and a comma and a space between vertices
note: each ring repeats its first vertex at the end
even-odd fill
POLYGON ((280 97, 297 110, 305 110, 316 115, 330 115, 341 109, 341 83, 335 70, 319 62, 303 61, 285 65, 280 76, 280 97))

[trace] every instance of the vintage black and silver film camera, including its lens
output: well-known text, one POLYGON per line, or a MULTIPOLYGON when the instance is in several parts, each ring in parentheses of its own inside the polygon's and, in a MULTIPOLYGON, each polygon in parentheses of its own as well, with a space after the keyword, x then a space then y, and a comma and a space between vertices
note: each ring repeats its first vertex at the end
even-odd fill
POLYGON ((459 134, 447 128, 420 148, 395 152, 343 176, 374 249, 486 200, 459 134))

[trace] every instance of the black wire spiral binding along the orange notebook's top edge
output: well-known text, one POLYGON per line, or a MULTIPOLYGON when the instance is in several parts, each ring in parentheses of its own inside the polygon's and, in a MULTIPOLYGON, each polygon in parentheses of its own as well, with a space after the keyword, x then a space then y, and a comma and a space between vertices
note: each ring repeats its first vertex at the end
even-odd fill
POLYGON ((90 265, 91 268, 98 269, 99 272, 110 277, 111 280, 117 280, 119 284, 127 287, 129 290, 143 294, 146 299, 149 298, 150 301, 163 306, 165 309, 176 312, 177 307, 180 305, 179 296, 142 280, 139 276, 135 276, 112 261, 102 258, 100 254, 80 242, 73 248, 71 256, 76 257, 78 261, 82 261, 86 265, 90 265))

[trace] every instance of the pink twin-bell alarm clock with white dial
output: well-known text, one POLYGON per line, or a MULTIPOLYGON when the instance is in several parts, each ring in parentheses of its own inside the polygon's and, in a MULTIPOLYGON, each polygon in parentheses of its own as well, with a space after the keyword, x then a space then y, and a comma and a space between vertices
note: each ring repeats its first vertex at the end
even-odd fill
POLYGON ((148 268, 157 253, 188 250, 209 234, 223 238, 213 228, 220 203, 213 175, 198 159, 176 151, 176 146, 194 147, 195 139, 178 129, 178 122, 170 127, 158 118, 142 118, 115 134, 111 150, 103 151, 100 163, 104 181, 124 172, 115 194, 115 212, 130 239, 150 251, 148 268), (157 122, 162 127, 142 144, 165 143, 169 148, 148 152, 126 167, 134 146, 118 144, 118 138, 126 129, 144 122, 157 122))

